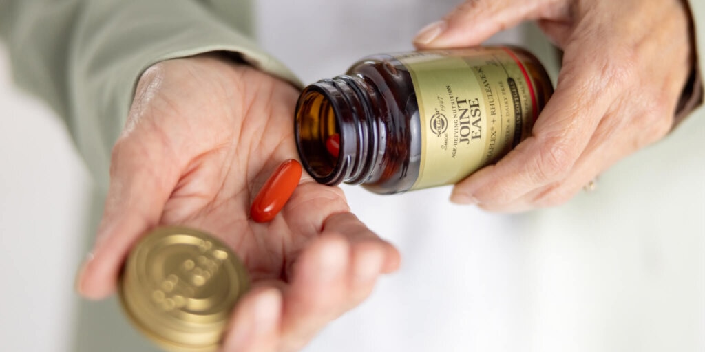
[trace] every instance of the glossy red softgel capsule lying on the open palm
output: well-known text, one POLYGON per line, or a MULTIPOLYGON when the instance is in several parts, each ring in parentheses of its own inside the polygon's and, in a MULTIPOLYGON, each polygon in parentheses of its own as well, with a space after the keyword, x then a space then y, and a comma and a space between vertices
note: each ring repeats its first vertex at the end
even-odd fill
POLYGON ((301 164, 290 159, 279 165, 252 202, 250 216, 256 222, 269 222, 284 208, 301 180, 301 164))

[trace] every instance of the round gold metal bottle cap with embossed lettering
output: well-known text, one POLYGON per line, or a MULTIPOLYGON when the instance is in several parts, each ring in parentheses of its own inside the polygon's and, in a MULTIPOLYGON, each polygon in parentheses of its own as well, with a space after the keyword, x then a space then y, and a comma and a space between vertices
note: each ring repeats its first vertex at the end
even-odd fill
POLYGON ((221 241, 187 227, 158 227, 125 260, 118 294, 137 329, 166 350, 214 351, 249 281, 221 241))

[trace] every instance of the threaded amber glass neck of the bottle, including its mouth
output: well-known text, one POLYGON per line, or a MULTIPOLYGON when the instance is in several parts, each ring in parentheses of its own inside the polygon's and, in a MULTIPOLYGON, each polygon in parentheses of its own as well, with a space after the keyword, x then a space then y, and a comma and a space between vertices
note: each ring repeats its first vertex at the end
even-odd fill
POLYGON ((295 137, 301 161, 317 182, 360 184, 372 175, 379 132, 369 88, 359 77, 341 75, 302 92, 295 137))

